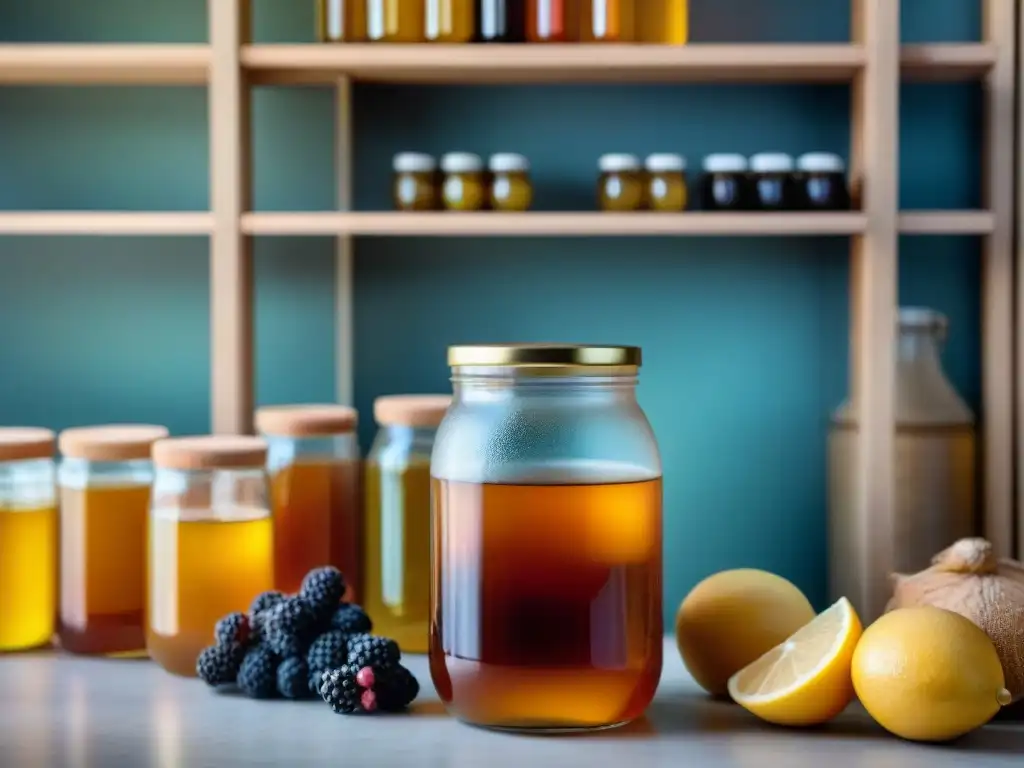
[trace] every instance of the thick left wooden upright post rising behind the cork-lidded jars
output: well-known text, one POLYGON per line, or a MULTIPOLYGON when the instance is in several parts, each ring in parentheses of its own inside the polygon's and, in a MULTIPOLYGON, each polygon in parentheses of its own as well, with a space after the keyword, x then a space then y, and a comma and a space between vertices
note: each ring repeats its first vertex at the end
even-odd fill
POLYGON ((253 418, 250 89, 240 62, 249 0, 209 0, 211 431, 248 433, 253 418))

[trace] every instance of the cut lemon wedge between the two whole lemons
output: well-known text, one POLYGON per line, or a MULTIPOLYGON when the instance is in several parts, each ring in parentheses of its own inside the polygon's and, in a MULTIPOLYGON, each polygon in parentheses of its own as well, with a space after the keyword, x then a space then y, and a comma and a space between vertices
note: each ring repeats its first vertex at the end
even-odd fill
POLYGON ((862 633, 850 601, 835 605, 729 679, 729 695, 778 725, 816 725, 853 699, 851 666, 862 633))

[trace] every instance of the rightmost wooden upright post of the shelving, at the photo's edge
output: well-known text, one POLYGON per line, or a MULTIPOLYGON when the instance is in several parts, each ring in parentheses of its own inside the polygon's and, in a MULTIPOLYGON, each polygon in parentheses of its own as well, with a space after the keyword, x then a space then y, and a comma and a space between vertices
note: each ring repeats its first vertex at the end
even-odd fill
POLYGON ((1014 542, 1014 98, 1015 0, 982 0, 985 42, 995 63, 985 76, 985 206, 994 226, 984 239, 981 343, 982 413, 979 440, 985 537, 999 557, 1014 542))

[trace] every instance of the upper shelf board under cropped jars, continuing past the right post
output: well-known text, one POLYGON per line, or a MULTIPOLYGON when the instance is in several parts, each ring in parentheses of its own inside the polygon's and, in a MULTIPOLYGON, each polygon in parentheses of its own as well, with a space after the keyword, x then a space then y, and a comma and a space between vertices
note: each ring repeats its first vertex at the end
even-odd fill
MULTIPOLYGON (((912 80, 980 77, 995 47, 906 46, 912 80)), ((241 59, 264 84, 364 82, 849 82, 864 65, 858 45, 250 45, 241 59)))

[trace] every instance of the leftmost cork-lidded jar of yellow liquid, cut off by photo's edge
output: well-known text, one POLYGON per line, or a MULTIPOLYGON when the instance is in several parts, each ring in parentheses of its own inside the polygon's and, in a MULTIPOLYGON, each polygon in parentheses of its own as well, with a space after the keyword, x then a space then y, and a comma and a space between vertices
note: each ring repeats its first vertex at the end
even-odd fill
POLYGON ((0 427, 0 653, 47 645, 56 616, 54 435, 0 427))

